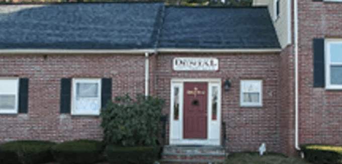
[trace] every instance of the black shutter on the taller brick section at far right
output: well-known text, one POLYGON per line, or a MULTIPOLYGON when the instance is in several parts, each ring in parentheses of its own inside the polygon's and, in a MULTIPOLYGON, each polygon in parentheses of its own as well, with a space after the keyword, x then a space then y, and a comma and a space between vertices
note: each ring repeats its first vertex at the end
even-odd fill
POLYGON ((313 39, 313 87, 324 86, 324 39, 313 39))

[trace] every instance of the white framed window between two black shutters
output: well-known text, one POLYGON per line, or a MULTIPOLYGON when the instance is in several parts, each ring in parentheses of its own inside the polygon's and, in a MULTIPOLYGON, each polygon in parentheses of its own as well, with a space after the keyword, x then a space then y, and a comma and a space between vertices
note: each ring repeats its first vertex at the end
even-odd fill
POLYGON ((100 115, 101 78, 73 78, 71 115, 100 115))

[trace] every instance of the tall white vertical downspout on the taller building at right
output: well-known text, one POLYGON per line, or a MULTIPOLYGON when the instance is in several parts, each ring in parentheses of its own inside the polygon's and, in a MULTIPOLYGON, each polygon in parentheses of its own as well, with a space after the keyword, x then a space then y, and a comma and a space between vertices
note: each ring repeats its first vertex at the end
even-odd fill
POLYGON ((300 150, 298 143, 298 7, 294 0, 294 32, 295 32, 295 147, 300 150))

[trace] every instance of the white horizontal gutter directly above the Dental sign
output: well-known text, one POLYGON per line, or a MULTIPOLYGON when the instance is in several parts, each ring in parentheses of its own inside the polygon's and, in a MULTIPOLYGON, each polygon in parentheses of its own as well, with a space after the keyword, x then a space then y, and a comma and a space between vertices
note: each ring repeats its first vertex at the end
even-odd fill
POLYGON ((281 48, 255 48, 255 49, 209 49, 209 48, 157 48, 157 52, 281 52, 281 48))

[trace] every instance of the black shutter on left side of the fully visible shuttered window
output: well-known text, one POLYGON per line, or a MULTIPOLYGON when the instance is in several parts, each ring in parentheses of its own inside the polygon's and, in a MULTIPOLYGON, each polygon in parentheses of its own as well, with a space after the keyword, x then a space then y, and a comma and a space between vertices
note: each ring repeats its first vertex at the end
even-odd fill
POLYGON ((70 113, 71 79, 62 78, 60 81, 60 113, 70 113))

